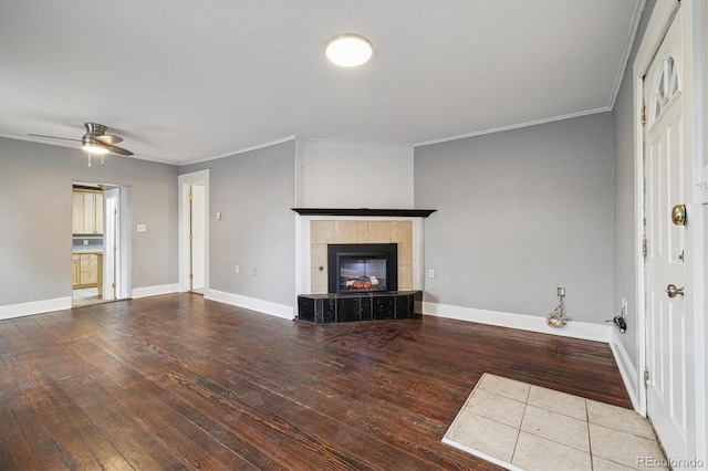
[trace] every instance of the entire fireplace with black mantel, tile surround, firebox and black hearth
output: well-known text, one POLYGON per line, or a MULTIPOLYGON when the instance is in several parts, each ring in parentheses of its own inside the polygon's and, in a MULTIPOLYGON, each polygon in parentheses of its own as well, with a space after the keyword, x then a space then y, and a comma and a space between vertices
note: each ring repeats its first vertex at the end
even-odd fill
POLYGON ((298 226, 298 291, 303 293, 298 294, 298 321, 330 324, 420 316, 423 218, 431 210, 295 211, 304 213, 298 226), (352 219, 356 217, 361 219, 352 219))

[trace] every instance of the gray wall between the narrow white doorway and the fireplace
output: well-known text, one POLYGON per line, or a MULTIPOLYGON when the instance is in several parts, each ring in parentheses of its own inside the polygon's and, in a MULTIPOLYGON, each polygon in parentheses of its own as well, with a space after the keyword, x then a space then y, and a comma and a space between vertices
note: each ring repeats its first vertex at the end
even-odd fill
POLYGON ((210 169, 210 287, 294 305, 295 212, 290 210, 295 195, 294 139, 184 166, 179 172, 206 168, 210 169))

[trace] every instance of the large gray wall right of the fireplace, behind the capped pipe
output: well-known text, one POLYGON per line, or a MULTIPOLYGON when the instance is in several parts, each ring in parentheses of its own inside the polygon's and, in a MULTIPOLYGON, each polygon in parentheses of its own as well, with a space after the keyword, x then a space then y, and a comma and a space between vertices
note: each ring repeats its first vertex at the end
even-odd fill
POLYGON ((545 316, 613 312, 611 113, 415 149, 425 223, 425 301, 545 316))

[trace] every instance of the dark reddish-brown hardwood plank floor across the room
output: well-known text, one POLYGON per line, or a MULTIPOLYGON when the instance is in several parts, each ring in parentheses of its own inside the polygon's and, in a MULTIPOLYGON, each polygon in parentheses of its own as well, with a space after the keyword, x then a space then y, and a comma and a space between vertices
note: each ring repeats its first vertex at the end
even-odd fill
POLYGON ((440 441, 485 371, 631 407, 606 344, 174 294, 0 321, 0 469, 497 469, 440 441))

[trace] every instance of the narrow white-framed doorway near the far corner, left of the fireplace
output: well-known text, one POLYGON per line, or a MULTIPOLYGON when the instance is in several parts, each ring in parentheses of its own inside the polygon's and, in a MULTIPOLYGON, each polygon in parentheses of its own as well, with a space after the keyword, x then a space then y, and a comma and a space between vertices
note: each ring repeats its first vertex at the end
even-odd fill
POLYGON ((179 176, 179 285, 183 292, 209 289, 209 170, 179 176))

